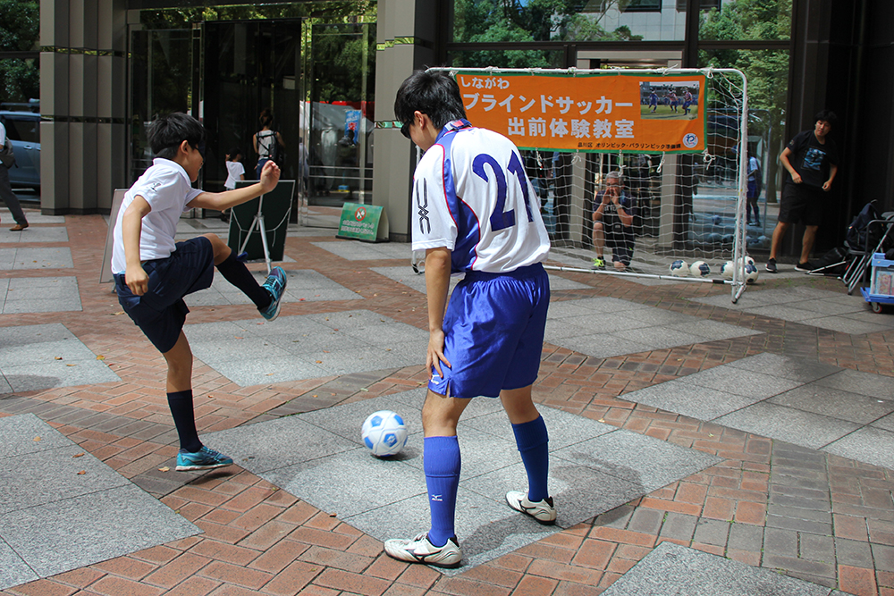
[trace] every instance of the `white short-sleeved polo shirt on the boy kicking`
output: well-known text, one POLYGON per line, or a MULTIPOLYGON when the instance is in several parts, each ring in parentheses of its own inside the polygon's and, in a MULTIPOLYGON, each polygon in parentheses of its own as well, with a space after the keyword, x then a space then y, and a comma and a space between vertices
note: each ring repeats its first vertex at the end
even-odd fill
POLYGON ((156 157, 139 180, 124 195, 118 218, 114 222, 112 245, 112 273, 124 273, 127 261, 124 258, 121 223, 124 212, 138 195, 146 199, 152 207, 143 217, 142 230, 139 234, 139 260, 151 261, 171 256, 174 251, 174 234, 177 222, 187 204, 202 194, 204 190, 193 189, 190 175, 176 162, 156 157))

